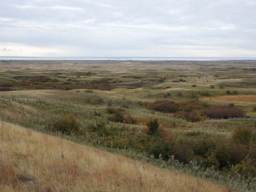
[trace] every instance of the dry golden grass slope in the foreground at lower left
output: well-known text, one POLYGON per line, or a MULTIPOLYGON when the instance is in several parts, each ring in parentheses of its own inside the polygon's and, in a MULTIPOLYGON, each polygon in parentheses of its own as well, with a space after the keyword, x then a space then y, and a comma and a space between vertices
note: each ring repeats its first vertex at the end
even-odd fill
POLYGON ((127 157, 0 122, 0 191, 227 191, 127 157))

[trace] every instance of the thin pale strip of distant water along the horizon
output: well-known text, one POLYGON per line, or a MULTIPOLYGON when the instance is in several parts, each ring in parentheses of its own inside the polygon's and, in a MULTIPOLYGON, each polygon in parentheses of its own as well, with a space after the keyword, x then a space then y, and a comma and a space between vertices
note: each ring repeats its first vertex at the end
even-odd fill
POLYGON ((256 57, 36 57, 0 56, 0 60, 255 60, 256 57))

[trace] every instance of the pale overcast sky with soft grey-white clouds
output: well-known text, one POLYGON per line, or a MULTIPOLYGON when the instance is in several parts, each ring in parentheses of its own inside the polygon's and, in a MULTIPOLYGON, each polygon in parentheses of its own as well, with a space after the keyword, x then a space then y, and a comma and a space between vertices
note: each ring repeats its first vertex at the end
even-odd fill
POLYGON ((0 0, 0 56, 256 57, 256 0, 0 0))

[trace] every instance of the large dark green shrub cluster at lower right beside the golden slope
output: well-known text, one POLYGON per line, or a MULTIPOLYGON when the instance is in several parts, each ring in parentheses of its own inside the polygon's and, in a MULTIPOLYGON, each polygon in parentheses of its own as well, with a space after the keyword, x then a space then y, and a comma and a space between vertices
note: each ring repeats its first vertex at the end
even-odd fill
MULTIPOLYGON (((196 136, 197 134, 191 134, 196 136)), ((234 129, 230 139, 194 137, 174 142, 172 154, 182 162, 196 159, 204 166, 235 171, 244 177, 256 176, 256 131, 252 128, 234 129)))

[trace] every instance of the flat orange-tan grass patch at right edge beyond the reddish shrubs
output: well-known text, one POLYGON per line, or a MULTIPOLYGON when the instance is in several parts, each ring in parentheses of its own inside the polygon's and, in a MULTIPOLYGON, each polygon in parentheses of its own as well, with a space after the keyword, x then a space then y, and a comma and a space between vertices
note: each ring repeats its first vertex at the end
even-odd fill
POLYGON ((211 100, 217 102, 237 102, 237 103, 256 103, 256 95, 224 95, 214 97, 203 97, 201 100, 211 100))

